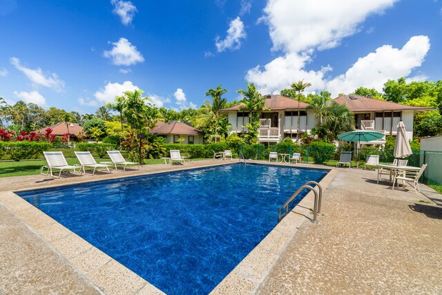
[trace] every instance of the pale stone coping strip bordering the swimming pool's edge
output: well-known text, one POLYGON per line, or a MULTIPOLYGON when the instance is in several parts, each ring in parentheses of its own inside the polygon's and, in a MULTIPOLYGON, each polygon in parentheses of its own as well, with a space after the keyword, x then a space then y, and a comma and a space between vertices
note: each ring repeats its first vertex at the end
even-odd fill
MULTIPOLYGON (((271 164, 262 161, 248 161, 253 164, 271 164)), ((165 171, 144 171, 137 175, 115 175, 105 180, 119 178, 137 177, 141 175, 153 175, 164 172, 198 169, 224 164, 234 164, 235 162, 210 162, 198 166, 177 166, 177 169, 166 169, 165 171)), ((285 163, 276 163, 278 166, 293 166, 285 163)), ((327 184, 336 174, 336 170, 331 167, 316 165, 298 164, 299 168, 329 170, 327 175, 320 181, 325 189, 327 184)), ((81 179, 71 184, 81 184, 97 182, 104 179, 81 179)), ((43 189, 52 187, 65 187, 66 184, 45 185, 43 189)), ((33 188, 37 189, 37 188, 33 188)), ((30 189, 17 189, 15 191, 29 191, 30 189)), ((0 202, 6 209, 11 211, 17 218, 39 236, 46 245, 56 254, 66 260, 86 282, 97 287, 99 292, 105 294, 164 294, 160 289, 148 283, 132 272, 124 265, 108 256, 103 251, 97 249, 86 240, 77 236, 56 220, 50 218, 46 213, 37 209, 32 204, 17 196, 13 191, 0 191, 0 202)), ((232 294, 254 293, 265 280, 273 265, 284 253, 291 239, 303 222, 310 220, 311 209, 314 204, 314 193, 310 192, 301 202, 292 209, 281 222, 212 290, 211 294, 232 294)))

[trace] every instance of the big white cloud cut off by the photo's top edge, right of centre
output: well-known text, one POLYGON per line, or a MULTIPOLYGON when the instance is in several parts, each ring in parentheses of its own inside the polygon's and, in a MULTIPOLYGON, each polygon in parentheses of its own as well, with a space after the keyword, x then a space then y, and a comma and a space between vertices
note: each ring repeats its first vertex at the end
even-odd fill
POLYGON ((333 48, 353 35, 369 15, 383 13, 398 0, 269 0, 263 19, 273 50, 286 53, 333 48))

